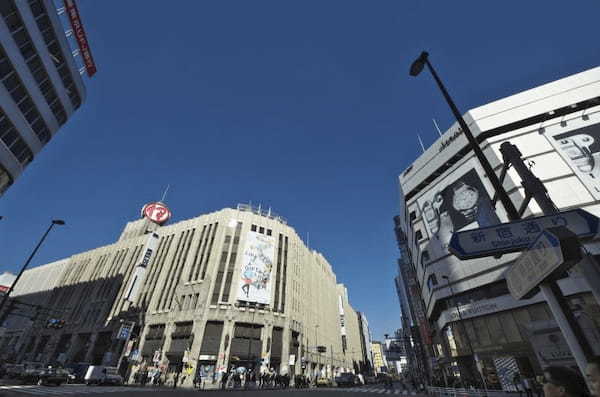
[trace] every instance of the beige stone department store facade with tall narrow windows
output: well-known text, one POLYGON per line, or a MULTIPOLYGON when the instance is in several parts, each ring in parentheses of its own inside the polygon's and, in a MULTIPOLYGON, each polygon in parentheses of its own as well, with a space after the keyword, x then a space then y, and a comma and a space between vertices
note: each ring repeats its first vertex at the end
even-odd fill
MULTIPOLYGON (((67 261, 48 298, 66 325, 50 330, 43 327, 47 318, 36 319, 23 336, 21 360, 117 365, 129 350, 118 331, 134 322, 129 363, 188 373, 186 383, 199 365, 213 379, 232 366, 314 377, 364 364, 346 288, 325 257, 270 211, 240 205, 166 226, 140 219, 116 243, 67 261), (158 246, 139 295, 126 300, 150 232, 158 246), (266 303, 238 299, 248 239, 257 235, 274 245, 266 303)), ((128 359, 122 362, 124 370, 128 359)))

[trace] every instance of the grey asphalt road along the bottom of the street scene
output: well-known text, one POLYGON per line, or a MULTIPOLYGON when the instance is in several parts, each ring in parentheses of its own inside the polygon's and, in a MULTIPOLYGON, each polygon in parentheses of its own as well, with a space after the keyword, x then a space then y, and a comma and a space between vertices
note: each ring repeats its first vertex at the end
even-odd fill
POLYGON ((356 388, 319 388, 319 389, 286 389, 286 390, 190 390, 190 389, 165 389, 151 387, 135 386, 85 386, 85 385, 63 385, 63 386, 34 386, 34 385, 14 385, 0 386, 0 396, 2 397, 27 397, 27 396, 60 396, 60 397, 190 397, 200 396, 226 396, 226 397, 315 397, 315 394, 321 396, 335 395, 339 397, 353 396, 373 396, 373 395, 397 395, 406 397, 417 397, 414 392, 403 392, 395 387, 392 390, 385 389, 383 385, 369 385, 356 388))

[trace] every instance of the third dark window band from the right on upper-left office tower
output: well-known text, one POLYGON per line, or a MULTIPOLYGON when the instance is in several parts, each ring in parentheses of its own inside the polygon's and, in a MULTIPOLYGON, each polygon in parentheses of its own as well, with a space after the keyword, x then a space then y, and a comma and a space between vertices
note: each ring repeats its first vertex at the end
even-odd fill
POLYGON ((0 80, 40 142, 47 143, 50 140, 50 130, 2 46, 0 46, 0 80))

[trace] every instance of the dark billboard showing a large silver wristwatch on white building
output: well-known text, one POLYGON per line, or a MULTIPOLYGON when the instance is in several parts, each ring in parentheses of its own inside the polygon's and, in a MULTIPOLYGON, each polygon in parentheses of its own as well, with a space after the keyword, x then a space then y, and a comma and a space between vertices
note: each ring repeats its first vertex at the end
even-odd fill
POLYGON ((423 258, 423 261, 446 255, 452 233, 468 225, 477 223, 473 227, 485 227, 500 223, 475 169, 443 188, 432 189, 419 203, 430 238, 426 248, 429 258, 423 258))

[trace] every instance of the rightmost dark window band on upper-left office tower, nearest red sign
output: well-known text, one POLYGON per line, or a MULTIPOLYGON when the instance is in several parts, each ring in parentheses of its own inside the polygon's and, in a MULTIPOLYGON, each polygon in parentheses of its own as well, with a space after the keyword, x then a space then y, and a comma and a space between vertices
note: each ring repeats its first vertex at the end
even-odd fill
POLYGON ((79 106, 81 106, 81 96, 77 92, 75 81, 73 80, 73 76, 71 75, 71 71, 67 65, 65 56, 58 43, 58 38, 56 37, 56 33, 52 27, 50 18, 48 17, 48 11, 41 0, 29 0, 29 7, 31 8, 31 13, 33 14, 33 17, 38 25, 38 29, 40 32, 42 32, 44 42, 46 43, 52 60, 56 65, 56 70, 62 79, 63 85, 67 90, 69 99, 73 104, 73 109, 77 109, 79 106))

